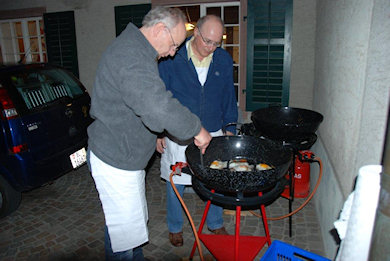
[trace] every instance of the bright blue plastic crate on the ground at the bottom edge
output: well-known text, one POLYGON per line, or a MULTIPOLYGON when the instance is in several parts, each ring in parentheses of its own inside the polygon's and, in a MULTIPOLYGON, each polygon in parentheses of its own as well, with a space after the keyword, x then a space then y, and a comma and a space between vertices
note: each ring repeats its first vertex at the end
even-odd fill
POLYGON ((330 261, 301 248, 274 240, 260 261, 330 261))

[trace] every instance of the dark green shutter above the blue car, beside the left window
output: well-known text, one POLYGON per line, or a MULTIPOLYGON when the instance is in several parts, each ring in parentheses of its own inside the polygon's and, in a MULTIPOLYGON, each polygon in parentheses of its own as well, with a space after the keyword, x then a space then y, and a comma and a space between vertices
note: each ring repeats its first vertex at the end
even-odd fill
POLYGON ((63 66, 79 77, 74 12, 45 13, 43 19, 49 63, 63 66))

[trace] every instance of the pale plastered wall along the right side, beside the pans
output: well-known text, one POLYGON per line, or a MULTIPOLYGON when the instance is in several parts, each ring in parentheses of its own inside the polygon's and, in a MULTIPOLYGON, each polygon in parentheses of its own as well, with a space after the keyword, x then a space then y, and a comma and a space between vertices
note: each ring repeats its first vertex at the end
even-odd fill
POLYGON ((358 169, 380 164, 390 90, 388 0, 317 1, 313 109, 324 115, 313 147, 324 159, 315 202, 333 258, 333 222, 358 169))

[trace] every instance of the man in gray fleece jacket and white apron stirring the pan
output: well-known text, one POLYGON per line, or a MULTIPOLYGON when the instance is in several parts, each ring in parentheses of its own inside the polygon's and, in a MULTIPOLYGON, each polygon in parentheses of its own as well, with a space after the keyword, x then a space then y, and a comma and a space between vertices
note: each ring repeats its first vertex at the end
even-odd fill
POLYGON ((156 134, 194 137, 204 152, 211 136, 197 116, 165 90, 157 60, 184 41, 185 16, 156 7, 138 29, 129 24, 104 52, 91 101, 89 163, 105 215, 109 260, 143 260, 148 241, 145 171, 156 134))

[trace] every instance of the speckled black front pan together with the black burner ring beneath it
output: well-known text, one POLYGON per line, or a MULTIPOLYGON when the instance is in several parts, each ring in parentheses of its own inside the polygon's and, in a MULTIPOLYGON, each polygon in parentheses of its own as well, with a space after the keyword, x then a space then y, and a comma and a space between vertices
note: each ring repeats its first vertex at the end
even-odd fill
POLYGON ((288 148, 269 139, 251 136, 214 137, 203 155, 203 165, 195 144, 189 145, 185 153, 194 190, 226 208, 258 206, 277 198, 286 185, 284 175, 292 161, 292 152, 288 148), (210 168, 214 160, 242 158, 249 163, 265 163, 273 168, 262 171, 210 168), (263 196, 258 197, 257 193, 261 191, 264 191, 263 196))

